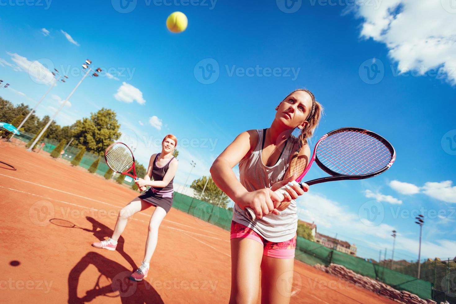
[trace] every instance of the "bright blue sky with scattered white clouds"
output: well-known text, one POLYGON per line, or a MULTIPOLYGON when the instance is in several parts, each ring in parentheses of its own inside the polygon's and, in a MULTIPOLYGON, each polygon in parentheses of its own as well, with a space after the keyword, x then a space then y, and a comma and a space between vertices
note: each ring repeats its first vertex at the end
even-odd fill
MULTIPOLYGON (((275 106, 308 88, 325 107, 315 137, 370 129, 389 139, 397 160, 370 180, 312 186, 299 217, 376 259, 384 248, 391 257, 395 229, 394 256, 410 260, 418 255, 413 218, 424 213, 422 257, 452 258, 456 10, 432 0, 286 1, 132 0, 124 10, 120 0, 1 1, 0 78, 10 88, 0 96, 34 106, 56 67, 69 79, 37 109, 52 115, 90 59, 104 72, 84 80, 57 123, 112 108, 141 163, 173 133, 183 184, 191 160, 190 180, 207 175, 237 134, 269 127, 275 106), (185 32, 166 29, 173 11, 187 15, 185 32)), ((314 166, 308 179, 322 174, 314 166)))

